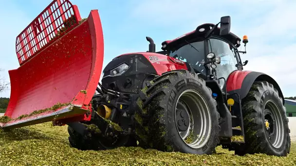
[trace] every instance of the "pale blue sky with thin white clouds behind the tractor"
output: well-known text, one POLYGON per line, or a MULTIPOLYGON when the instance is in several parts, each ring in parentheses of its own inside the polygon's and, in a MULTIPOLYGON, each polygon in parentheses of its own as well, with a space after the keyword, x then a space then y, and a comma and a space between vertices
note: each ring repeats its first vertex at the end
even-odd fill
MULTIPOLYGON (((52 0, 0 0, 0 75, 9 82, 8 70, 19 67, 16 36, 52 0)), ((147 51, 151 37, 161 43, 193 31, 203 23, 231 17, 231 32, 247 35, 248 60, 244 70, 273 77, 285 97, 296 96, 296 0, 71 0, 81 17, 98 9, 104 33, 105 67, 112 58, 147 51)), ((241 48, 243 50, 243 48, 241 48)), ((10 90, 0 93, 10 97, 10 90)))

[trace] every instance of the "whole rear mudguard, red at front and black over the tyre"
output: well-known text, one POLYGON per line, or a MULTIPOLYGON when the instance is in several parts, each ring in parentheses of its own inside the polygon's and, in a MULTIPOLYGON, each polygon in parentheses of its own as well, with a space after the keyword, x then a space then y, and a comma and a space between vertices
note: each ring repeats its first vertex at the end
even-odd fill
POLYGON ((238 93, 240 95, 240 99, 243 99, 247 96, 252 84, 255 81, 267 81, 269 83, 272 83, 274 87, 278 90, 278 93, 282 98, 284 104, 285 100, 277 82, 269 75, 261 72, 241 70, 233 71, 227 78, 226 90, 229 94, 238 93))

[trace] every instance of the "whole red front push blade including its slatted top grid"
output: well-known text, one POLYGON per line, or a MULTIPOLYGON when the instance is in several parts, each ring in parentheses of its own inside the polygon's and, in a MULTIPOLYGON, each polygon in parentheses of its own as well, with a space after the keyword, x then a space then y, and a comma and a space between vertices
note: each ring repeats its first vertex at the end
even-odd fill
POLYGON ((54 0, 17 36, 16 52, 2 128, 90 118, 104 56, 97 10, 82 20, 76 5, 54 0))

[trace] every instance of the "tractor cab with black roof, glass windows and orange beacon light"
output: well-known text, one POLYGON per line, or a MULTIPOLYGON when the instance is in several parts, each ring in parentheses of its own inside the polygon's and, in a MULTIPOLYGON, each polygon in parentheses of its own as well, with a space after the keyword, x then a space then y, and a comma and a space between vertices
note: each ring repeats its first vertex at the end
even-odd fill
MULTIPOLYGON (((230 17, 221 17, 218 24, 203 24, 195 31, 162 43, 167 56, 184 61, 206 80, 217 80, 221 88, 228 75, 242 70, 239 51, 241 39, 230 32, 230 17), (221 23, 221 26, 218 25, 221 23), (221 79, 225 79, 221 81, 221 79)), ((244 36, 243 43, 247 43, 244 36)))

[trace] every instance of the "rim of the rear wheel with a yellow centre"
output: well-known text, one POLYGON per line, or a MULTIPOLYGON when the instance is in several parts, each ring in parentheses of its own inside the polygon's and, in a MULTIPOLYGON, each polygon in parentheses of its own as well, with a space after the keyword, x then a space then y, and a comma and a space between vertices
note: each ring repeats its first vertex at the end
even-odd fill
POLYGON ((279 148, 284 141, 284 126, 282 115, 272 100, 268 100, 264 106, 263 122, 268 140, 273 147, 279 148))

